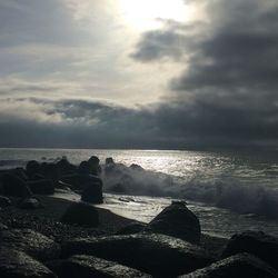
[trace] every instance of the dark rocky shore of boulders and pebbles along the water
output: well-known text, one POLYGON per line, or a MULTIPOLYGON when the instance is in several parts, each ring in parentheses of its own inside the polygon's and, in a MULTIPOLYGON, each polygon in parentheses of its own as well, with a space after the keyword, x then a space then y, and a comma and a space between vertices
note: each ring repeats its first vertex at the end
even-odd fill
POLYGON ((278 277, 277 238, 203 235, 185 201, 149 224, 96 208, 103 172, 110 180, 115 175, 115 189, 125 188, 119 177, 128 179, 128 169, 111 158, 102 169, 91 157, 79 166, 63 158, 1 171, 0 277, 278 277), (75 190, 82 201, 54 198, 56 190, 75 190))

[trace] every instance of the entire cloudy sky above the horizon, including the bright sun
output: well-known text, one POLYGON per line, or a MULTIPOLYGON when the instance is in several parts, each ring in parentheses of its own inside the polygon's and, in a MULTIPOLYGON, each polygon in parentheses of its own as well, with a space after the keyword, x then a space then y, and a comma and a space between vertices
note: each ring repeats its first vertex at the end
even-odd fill
POLYGON ((0 0, 0 147, 278 149, 277 0, 0 0))

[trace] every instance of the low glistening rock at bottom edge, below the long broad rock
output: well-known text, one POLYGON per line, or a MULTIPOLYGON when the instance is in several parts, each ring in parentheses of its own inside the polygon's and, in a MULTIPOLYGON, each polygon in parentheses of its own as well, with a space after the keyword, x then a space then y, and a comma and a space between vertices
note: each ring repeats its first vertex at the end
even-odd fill
POLYGON ((139 270, 87 255, 76 255, 67 260, 53 261, 50 268, 59 278, 150 278, 139 270))

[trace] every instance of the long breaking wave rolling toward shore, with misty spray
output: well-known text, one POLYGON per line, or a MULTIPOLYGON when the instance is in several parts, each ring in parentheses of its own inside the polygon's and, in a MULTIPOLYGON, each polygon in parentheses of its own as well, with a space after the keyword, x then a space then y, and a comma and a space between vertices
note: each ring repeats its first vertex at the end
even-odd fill
POLYGON ((112 193, 172 197, 199 201, 242 215, 278 218, 278 192, 239 180, 218 178, 203 180, 196 175, 189 180, 166 173, 129 168, 123 165, 103 175, 105 190, 112 193))

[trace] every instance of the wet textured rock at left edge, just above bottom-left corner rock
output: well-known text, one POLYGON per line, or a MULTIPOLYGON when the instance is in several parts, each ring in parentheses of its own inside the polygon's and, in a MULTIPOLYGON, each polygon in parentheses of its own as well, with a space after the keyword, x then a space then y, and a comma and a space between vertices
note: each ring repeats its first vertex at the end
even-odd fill
POLYGON ((30 229, 0 231, 0 245, 8 249, 24 251, 38 260, 50 260, 60 256, 60 246, 52 239, 30 229))

